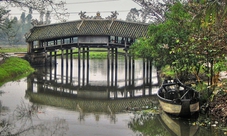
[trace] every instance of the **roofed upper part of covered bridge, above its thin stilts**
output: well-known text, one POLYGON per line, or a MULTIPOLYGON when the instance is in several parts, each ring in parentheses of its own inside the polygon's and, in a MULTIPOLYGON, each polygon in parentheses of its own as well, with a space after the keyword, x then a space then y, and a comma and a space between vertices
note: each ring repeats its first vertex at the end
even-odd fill
POLYGON ((57 50, 73 54, 74 48, 86 48, 86 52, 89 48, 127 51, 135 39, 147 37, 148 27, 149 24, 116 20, 116 17, 103 19, 100 14, 71 22, 35 25, 26 35, 28 58, 31 62, 40 62, 38 58, 47 58, 57 50))

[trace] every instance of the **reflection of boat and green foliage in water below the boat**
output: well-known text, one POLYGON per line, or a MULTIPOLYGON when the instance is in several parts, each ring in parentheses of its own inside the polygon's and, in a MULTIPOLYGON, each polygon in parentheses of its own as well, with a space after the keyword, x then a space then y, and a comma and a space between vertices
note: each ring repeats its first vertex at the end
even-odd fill
POLYGON ((146 136, 195 136, 199 127, 191 125, 190 121, 192 119, 174 118, 164 112, 159 115, 137 113, 129 122, 129 127, 146 136))

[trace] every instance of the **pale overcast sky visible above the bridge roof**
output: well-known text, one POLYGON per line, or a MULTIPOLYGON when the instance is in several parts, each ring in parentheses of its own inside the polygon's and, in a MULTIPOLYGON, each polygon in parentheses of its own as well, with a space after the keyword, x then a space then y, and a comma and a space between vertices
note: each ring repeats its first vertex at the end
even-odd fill
MULTIPOLYGON (((70 13, 67 21, 78 20, 80 11, 86 12, 87 16, 95 16, 99 11, 102 18, 106 18, 111 15, 111 11, 117 11, 119 13, 118 19, 125 20, 128 12, 131 8, 141 9, 141 7, 133 2, 133 0, 62 0, 66 2, 67 12, 70 13)), ((18 8, 10 8, 11 16, 20 17, 22 10, 18 8)), ((39 20, 39 14, 33 13, 33 19, 39 20)), ((51 17, 51 22, 57 22, 54 17, 51 17)))

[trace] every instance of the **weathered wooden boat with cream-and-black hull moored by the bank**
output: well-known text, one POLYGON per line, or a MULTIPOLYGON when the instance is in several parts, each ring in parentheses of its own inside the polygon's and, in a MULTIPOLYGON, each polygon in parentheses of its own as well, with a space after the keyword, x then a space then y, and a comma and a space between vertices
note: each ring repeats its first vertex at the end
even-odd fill
POLYGON ((199 93, 179 79, 164 80, 157 93, 163 111, 176 116, 191 116, 199 111, 199 93))

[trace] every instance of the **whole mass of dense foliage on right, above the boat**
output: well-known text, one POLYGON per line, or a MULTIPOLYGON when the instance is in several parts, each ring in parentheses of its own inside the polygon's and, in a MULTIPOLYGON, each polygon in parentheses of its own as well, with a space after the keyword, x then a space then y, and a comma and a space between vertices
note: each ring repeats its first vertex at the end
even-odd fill
POLYGON ((215 83, 226 68, 226 9, 225 1, 218 0, 176 2, 166 20, 152 24, 149 38, 139 39, 131 52, 155 60, 158 68, 169 65, 178 78, 194 75, 200 80, 205 73, 215 83))

